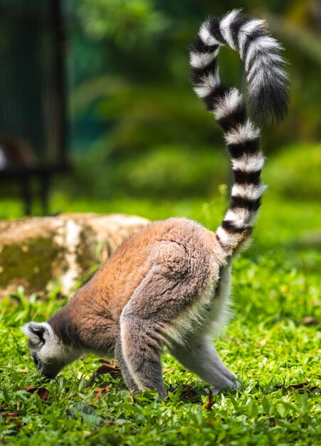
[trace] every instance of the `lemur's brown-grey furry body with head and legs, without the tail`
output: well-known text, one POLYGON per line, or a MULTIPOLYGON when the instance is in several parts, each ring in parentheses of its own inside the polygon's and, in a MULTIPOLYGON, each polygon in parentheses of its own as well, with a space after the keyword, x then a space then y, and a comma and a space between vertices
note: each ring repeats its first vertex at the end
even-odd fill
POLYGON ((216 390, 236 388, 206 339, 227 304, 228 285, 222 293, 218 287, 221 271, 230 274, 226 264, 216 234, 200 224, 179 218, 149 224, 48 323, 23 328, 38 370, 53 377, 82 351, 94 351, 116 356, 130 390, 156 388, 165 397, 159 357, 165 344, 216 390), (201 361, 190 363, 197 355, 201 361))

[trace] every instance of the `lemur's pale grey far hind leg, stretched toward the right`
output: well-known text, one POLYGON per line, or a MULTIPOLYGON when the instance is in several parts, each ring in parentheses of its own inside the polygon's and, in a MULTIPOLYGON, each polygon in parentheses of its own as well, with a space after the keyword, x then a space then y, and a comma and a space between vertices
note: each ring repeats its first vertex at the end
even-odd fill
POLYGON ((228 370, 219 357, 209 339, 204 336, 191 346, 174 344, 169 346, 169 352, 199 377, 214 386, 214 392, 221 390, 236 390, 238 382, 235 375, 228 370))

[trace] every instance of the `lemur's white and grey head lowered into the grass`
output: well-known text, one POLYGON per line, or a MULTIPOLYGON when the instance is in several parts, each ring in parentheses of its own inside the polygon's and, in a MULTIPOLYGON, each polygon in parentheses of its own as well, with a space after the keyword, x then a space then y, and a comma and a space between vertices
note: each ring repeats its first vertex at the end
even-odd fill
POLYGON ((65 365, 79 356, 73 347, 61 341, 48 322, 30 322, 21 327, 21 331, 28 336, 29 351, 37 371, 47 378, 55 378, 65 365))

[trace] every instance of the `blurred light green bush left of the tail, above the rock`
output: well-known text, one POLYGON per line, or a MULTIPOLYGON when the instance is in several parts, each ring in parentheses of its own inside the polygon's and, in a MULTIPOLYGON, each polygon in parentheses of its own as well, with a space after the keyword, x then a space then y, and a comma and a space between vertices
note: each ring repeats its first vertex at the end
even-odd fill
POLYGON ((127 156, 121 161, 107 162, 100 161, 101 151, 98 150, 96 155, 86 157, 87 162, 82 158, 68 190, 79 195, 83 182, 87 182, 90 191, 87 189, 86 195, 90 193, 96 198, 106 195, 154 199, 186 195, 209 197, 215 195, 219 185, 226 181, 228 162, 223 150, 215 153, 207 149, 199 147, 193 152, 189 147, 168 144, 150 147, 146 153, 127 156))

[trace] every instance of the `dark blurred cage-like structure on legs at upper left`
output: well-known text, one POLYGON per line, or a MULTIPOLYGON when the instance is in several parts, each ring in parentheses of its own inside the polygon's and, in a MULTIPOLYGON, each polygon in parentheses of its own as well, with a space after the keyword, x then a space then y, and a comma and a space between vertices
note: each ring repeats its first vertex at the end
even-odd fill
POLYGON ((60 1, 0 0, 0 30, 1 195, 20 192, 31 214, 36 179, 47 214, 51 177, 68 168, 60 1))

